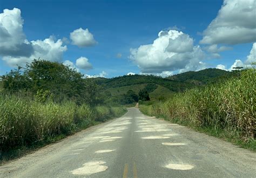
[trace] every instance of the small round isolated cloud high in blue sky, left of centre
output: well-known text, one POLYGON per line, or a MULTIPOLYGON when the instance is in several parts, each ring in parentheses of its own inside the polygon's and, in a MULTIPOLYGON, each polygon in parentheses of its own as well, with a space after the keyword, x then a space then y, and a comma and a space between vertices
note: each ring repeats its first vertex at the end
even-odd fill
POLYGON ((76 29, 70 33, 70 39, 72 40, 73 45, 79 47, 93 46, 97 44, 96 40, 93 38, 92 33, 88 29, 76 29))

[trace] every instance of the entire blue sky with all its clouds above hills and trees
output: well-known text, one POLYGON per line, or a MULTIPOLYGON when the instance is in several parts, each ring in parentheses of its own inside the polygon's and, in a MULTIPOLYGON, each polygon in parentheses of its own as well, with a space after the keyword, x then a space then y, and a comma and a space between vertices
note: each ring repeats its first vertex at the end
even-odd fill
POLYGON ((0 75, 33 59, 86 77, 252 67, 256 0, 0 1, 0 75))

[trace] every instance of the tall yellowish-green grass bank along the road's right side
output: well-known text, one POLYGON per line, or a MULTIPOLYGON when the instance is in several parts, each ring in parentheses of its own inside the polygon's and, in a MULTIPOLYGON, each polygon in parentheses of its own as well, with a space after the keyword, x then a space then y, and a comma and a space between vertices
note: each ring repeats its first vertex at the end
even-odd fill
POLYGON ((165 102, 140 105, 140 110, 192 127, 225 130, 248 142, 256 133, 255 101, 256 72, 251 69, 224 83, 174 94, 165 102))

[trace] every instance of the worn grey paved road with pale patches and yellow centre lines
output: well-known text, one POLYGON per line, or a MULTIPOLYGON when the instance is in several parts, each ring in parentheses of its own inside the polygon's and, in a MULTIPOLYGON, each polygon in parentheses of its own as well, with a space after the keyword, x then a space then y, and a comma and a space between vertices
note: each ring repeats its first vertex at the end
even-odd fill
POLYGON ((256 154, 137 108, 0 167, 0 177, 255 177, 256 154))

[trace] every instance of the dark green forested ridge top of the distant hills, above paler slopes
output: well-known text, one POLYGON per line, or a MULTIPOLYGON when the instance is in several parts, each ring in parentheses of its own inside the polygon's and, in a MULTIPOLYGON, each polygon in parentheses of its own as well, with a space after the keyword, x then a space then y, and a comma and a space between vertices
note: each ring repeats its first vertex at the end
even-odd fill
POLYGON ((110 79, 95 78, 96 83, 103 85, 105 88, 117 88, 138 84, 157 84, 168 88, 173 92, 184 91, 187 88, 200 86, 207 83, 214 83, 220 77, 230 77, 231 72, 220 69, 205 69, 201 71, 189 71, 167 78, 161 78, 153 75, 133 75, 120 76, 110 79))

